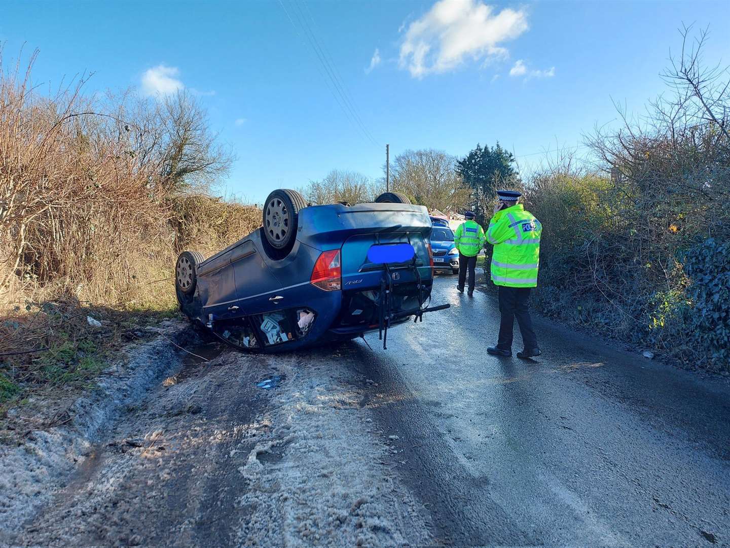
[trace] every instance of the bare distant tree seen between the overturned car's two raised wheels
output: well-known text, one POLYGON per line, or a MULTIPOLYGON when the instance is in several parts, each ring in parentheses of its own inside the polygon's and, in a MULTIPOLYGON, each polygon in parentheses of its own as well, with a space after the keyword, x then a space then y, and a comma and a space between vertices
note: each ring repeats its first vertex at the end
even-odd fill
POLYGON ((379 190, 378 184, 362 173, 331 170, 322 180, 310 180, 300 192, 311 204, 326 205, 372 202, 379 190))

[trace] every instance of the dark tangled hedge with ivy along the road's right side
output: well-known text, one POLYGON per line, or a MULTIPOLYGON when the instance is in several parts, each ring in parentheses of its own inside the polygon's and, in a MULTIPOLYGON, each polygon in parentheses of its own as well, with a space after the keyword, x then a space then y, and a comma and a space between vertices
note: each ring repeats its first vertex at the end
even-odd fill
POLYGON ((730 73, 702 63, 706 32, 664 73, 671 94, 586 137, 590 169, 561 161, 526 179, 542 221, 539 306, 729 370, 730 73))

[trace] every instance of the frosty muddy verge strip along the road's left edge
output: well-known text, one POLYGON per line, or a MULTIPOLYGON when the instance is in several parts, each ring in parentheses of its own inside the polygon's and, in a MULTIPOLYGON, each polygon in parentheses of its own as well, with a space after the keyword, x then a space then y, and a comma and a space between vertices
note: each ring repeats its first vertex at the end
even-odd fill
POLYGON ((157 337, 129 346, 90 391, 61 404, 69 415, 66 424, 32 430, 13 445, 0 445, 0 541, 48 503, 78 465, 93 459, 93 444, 121 412, 180 367, 183 353, 175 344, 185 346, 196 340, 183 321, 164 321, 147 330, 157 337))

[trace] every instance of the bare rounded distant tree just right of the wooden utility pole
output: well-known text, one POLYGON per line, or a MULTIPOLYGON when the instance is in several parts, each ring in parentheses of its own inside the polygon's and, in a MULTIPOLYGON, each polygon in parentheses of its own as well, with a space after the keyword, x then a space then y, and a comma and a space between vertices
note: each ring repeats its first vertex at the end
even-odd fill
POLYGON ((391 189, 429 209, 461 210, 471 193, 455 168, 456 157, 443 151, 405 151, 391 165, 391 189))

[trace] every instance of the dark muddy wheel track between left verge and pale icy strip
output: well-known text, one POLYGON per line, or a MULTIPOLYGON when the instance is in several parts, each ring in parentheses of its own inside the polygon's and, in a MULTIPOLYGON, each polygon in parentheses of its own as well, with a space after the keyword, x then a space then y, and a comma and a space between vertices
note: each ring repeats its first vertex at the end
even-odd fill
POLYGON ((237 520, 245 518, 232 492, 242 484, 235 481, 240 474, 229 462, 242 456, 231 449, 255 445, 254 417, 269 403, 269 395, 253 387, 268 365, 247 357, 247 368, 233 369, 226 364, 230 355, 188 365, 128 409, 18 541, 226 545, 237 520))

